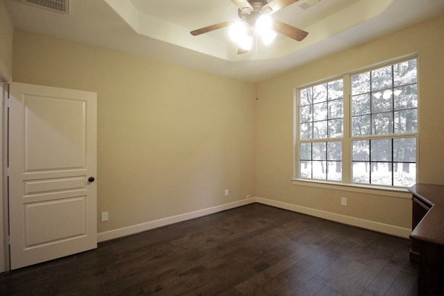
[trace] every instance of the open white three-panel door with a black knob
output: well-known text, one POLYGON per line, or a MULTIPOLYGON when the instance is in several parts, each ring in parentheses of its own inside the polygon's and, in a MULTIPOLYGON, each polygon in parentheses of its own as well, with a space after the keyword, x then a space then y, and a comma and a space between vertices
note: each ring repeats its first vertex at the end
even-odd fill
POLYGON ((96 93, 10 85, 11 269, 97 247, 96 93))

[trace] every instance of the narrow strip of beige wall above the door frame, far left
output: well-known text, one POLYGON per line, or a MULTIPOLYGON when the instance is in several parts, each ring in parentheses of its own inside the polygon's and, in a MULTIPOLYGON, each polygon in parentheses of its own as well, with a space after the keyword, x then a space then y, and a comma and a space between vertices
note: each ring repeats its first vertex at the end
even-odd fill
POLYGON ((0 0, 0 81, 11 79, 13 33, 14 28, 5 3, 0 0))

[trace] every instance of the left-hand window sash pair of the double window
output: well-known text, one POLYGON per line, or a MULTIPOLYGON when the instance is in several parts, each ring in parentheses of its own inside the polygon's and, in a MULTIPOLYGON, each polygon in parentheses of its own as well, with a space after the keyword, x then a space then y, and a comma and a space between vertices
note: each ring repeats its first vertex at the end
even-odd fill
POLYGON ((300 91, 300 177, 342 180, 343 80, 300 91))

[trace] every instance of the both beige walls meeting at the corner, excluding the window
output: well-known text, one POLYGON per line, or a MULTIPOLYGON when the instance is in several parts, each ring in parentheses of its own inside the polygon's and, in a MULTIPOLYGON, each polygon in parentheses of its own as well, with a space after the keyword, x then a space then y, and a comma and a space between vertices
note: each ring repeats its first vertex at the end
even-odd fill
POLYGON ((436 132, 444 129, 444 17, 258 85, 26 31, 14 40, 15 81, 98 92, 98 208, 110 212, 99 232, 246 194, 408 229, 407 193, 311 188, 291 178, 294 87, 411 53, 419 56, 418 181, 444 184, 444 137, 436 132))

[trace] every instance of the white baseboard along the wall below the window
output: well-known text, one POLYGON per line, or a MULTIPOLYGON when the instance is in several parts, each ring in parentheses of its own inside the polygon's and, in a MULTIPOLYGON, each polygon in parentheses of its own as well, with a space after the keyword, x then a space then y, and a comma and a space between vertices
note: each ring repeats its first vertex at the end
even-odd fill
POLYGON ((268 200, 266 198, 255 198, 256 202, 261 204, 267 204, 269 206, 278 207, 280 209, 287 209, 289 211, 296 211, 298 213, 307 214, 327 220, 332 220, 339 223, 344 223, 356 227, 370 229, 375 232, 382 232, 384 234, 391 234, 393 236, 400 236, 402 238, 409 238, 411 229, 398 227, 394 225, 388 225, 371 220, 364 220, 361 218, 355 218, 351 216, 345 216, 341 214, 331 213, 328 211, 321 211, 319 209, 312 209, 309 207, 302 207, 296 204, 289 204, 287 202, 279 202, 277 200, 268 200))

